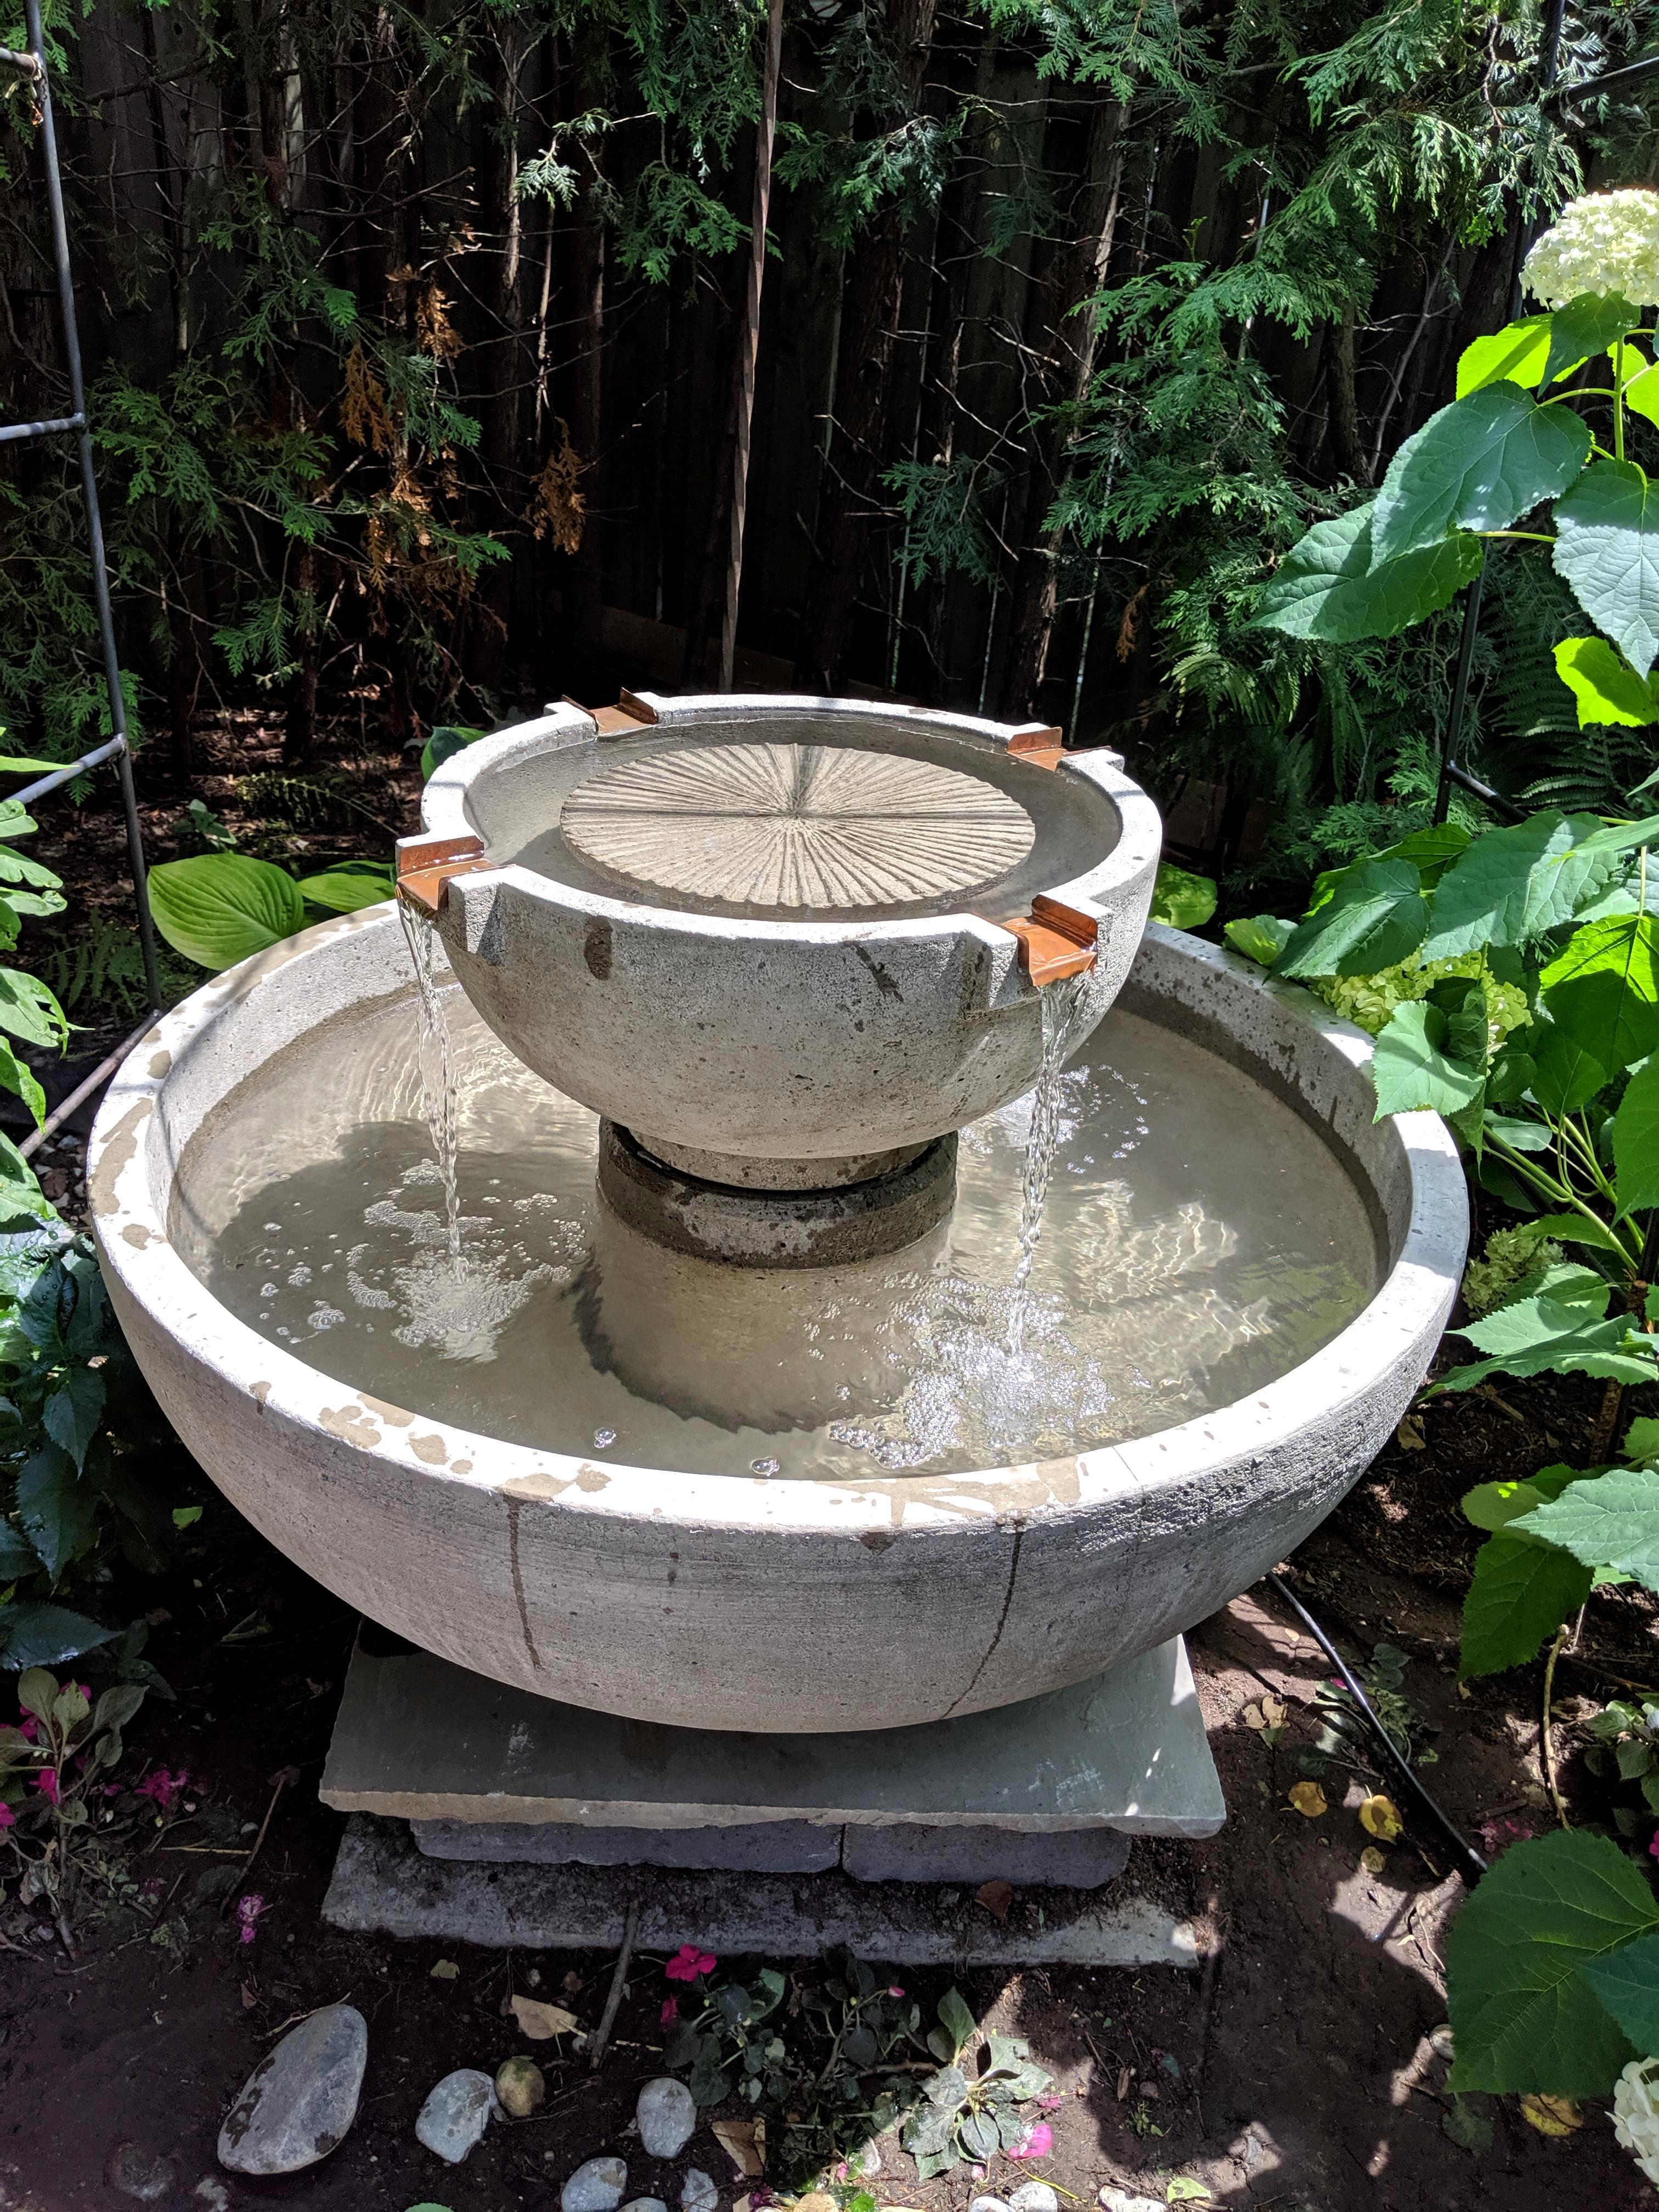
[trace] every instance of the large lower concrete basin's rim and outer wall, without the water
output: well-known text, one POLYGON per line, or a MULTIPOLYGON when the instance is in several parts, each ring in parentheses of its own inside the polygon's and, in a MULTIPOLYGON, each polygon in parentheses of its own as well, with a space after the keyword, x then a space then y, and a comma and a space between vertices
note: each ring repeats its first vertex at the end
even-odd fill
MULTIPOLYGON (((1234 953, 1152 927, 1128 1002, 1155 1015, 1164 1002, 1188 1035, 1210 1026, 1243 1040, 1239 1064, 1281 1095, 1301 1095, 1303 1115, 1352 1155, 1387 1221, 1389 1267, 1376 1296, 1276 1383, 1179 1427, 1064 1460, 856 1484, 595 1464, 411 1416, 352 1394, 237 1321, 166 1239, 177 1157, 201 1113, 330 1002, 385 998, 403 960, 392 907, 369 907, 215 978, 157 1022, 97 1115, 93 1228, 150 1385, 254 1526, 387 1628, 544 1697, 648 1721, 836 1730, 984 1710, 1079 1681, 1203 1619, 1332 1511, 1409 1405, 1458 1292, 1467 1190, 1442 1121, 1420 1113, 1374 1124, 1363 1031, 1234 953), (201 1097, 190 1079, 179 1082, 192 1055, 201 1055, 201 1097), (332 1517, 347 1506, 376 1515, 385 1533, 387 1515, 405 1517, 414 1548, 445 1542, 436 1531, 447 1531, 451 1548, 471 1546, 467 1573, 491 1595, 462 1610, 453 1590, 445 1604, 409 1590, 389 1553, 358 1555, 338 1540, 332 1517), (522 1577, 520 1513, 524 1542, 538 1548, 526 1551, 522 1577), (796 1619, 796 1608, 774 1630, 745 1624, 730 1650, 710 1637, 706 1650, 697 1646, 708 1672, 681 1679, 659 1626, 661 1586, 650 1604, 637 1588, 659 1557, 684 1557, 686 1575, 730 1562, 761 1608, 796 1590, 818 1593, 818 1606, 834 1590, 834 1641, 825 1641, 830 1628, 796 1619), (604 1562, 613 1577, 591 1599, 571 1579, 582 1562, 604 1562), (566 1593, 557 1619, 575 1619, 566 1604, 608 1608, 608 1644, 599 1646, 586 1615, 557 1641, 557 1619, 535 1595, 542 1573, 566 1593), (907 1617, 905 1606, 916 1613, 907 1617), (920 1613, 931 1606, 936 1637, 973 1641, 960 1668, 927 1650, 920 1613), (909 1644, 911 1624, 916 1661, 880 1663, 896 1628, 909 1644), (633 1639, 644 1657, 628 1674, 617 1655, 626 1659, 633 1639), (880 1650, 867 1657, 865 1644, 880 1650), (757 1699, 757 1674, 781 1677, 796 1659, 805 1686, 790 1681, 770 1703, 757 1699), (745 1677, 745 1666, 757 1674, 745 1677)), ((681 1619, 692 1608, 688 1595, 681 1619)))

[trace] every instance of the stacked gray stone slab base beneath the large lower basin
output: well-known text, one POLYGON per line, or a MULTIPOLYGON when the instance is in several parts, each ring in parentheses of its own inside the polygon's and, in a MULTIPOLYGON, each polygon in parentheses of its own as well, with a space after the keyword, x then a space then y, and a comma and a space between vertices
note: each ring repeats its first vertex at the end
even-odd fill
POLYGON ((557 1705, 365 1628, 321 1794, 380 1816, 341 1851, 343 1927, 580 1949, 641 1896, 664 1927, 690 1916, 677 1940, 712 1913, 732 1951, 854 1942, 911 1964, 962 1955, 962 1900, 989 1880, 1044 1898, 975 1955, 1175 1958, 1168 1916, 1086 1893, 1124 1874, 1130 1836, 1223 1818, 1179 1637, 998 1712, 761 1736, 557 1705))

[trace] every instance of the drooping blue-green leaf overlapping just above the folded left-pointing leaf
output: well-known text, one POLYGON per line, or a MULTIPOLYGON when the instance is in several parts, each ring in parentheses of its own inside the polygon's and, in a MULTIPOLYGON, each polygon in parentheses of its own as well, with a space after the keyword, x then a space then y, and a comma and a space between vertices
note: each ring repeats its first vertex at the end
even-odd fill
POLYGON ((1590 458, 1590 425, 1540 407, 1513 383, 1442 407, 1407 438, 1371 515, 1378 562, 1433 546, 1451 529, 1502 531, 1566 491, 1590 458))

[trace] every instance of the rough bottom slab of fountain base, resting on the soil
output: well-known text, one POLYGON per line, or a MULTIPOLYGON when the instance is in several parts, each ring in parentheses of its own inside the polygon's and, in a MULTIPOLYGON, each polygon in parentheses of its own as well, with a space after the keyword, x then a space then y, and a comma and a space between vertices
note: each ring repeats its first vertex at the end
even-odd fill
POLYGON ((816 1958, 847 1944, 896 1966, 1197 1966, 1188 1922, 1150 1898, 1044 1889, 1042 1911, 998 1922, 971 1891, 854 1882, 845 1874, 670 1874, 624 1867, 462 1867, 422 1858, 409 1832, 347 1823, 323 1918, 354 1933, 491 1949, 615 1951, 630 1902, 639 1949, 816 1958))

